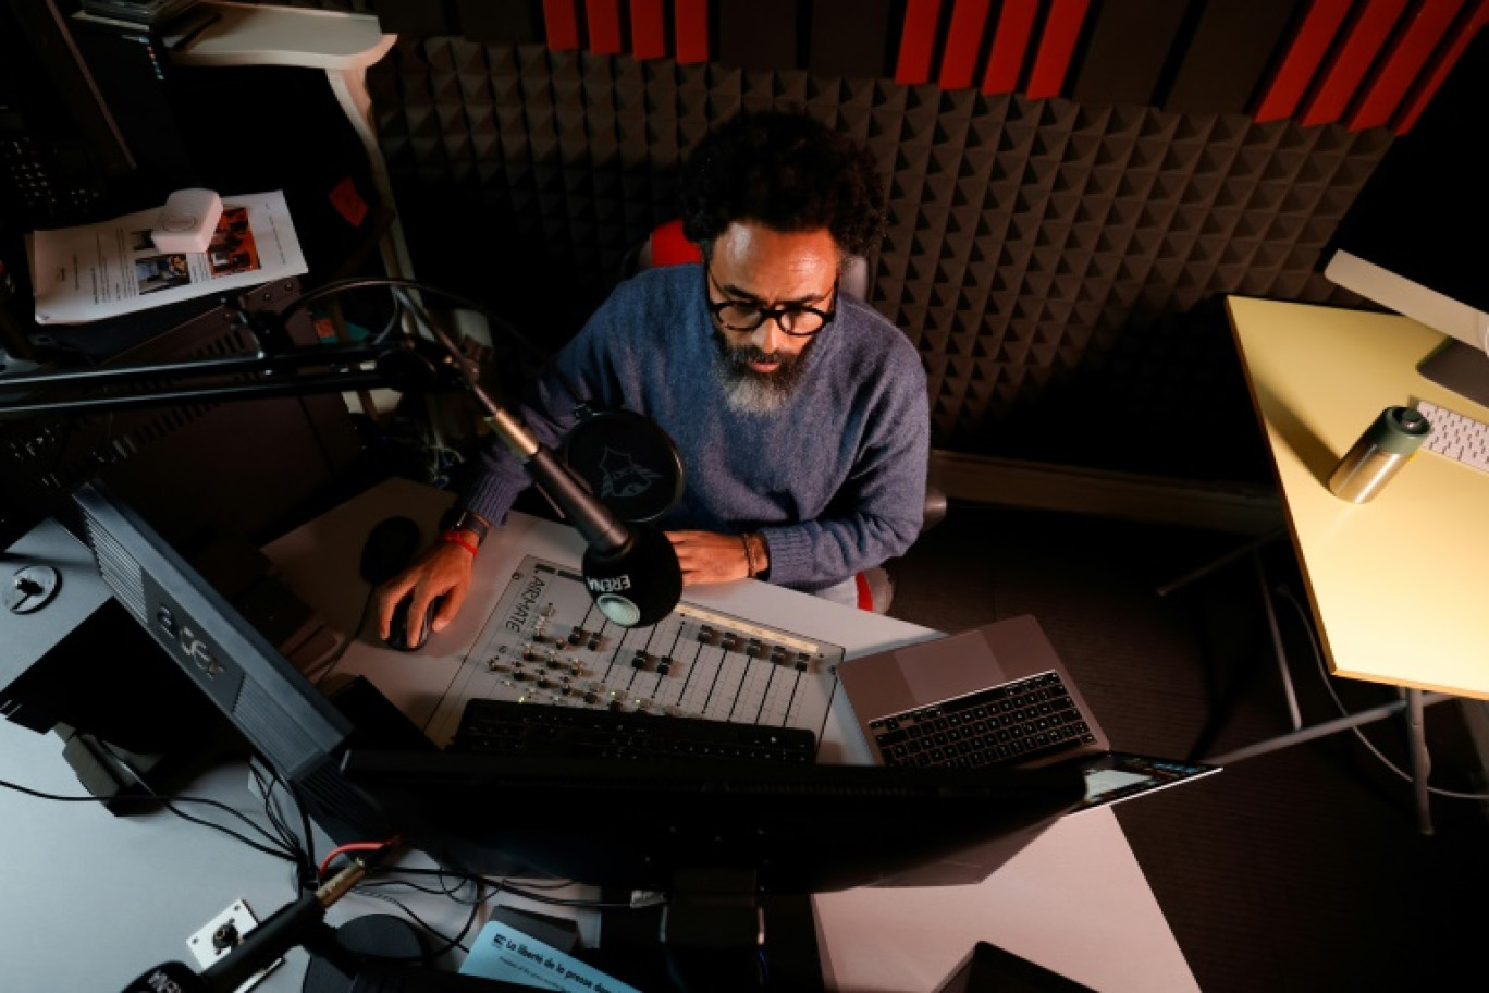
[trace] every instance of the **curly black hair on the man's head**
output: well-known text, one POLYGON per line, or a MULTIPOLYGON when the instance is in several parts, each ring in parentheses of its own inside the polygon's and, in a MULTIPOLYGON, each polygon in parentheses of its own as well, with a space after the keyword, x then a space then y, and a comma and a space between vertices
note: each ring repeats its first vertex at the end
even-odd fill
POLYGON ((844 255, 884 237, 884 182, 868 149, 800 112, 740 113, 706 134, 679 176, 682 231, 704 246, 734 220, 826 228, 844 255))

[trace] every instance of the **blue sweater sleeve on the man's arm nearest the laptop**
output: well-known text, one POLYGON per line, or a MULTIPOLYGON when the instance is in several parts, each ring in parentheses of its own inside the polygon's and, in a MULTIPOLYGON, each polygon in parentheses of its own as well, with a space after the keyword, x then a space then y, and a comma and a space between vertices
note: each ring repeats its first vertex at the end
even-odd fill
POLYGON ((864 444, 832 505, 816 520, 761 529, 770 582, 820 590, 901 555, 925 521, 931 411, 911 351, 884 377, 865 412, 864 444))

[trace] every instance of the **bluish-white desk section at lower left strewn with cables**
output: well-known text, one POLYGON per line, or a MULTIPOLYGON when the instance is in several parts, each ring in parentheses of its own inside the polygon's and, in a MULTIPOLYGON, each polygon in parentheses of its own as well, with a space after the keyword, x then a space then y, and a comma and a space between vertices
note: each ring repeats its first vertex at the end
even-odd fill
MULTIPOLYGON (((0 780, 83 795, 55 734, 36 734, 7 721, 0 721, 0 780)), ((246 765, 213 770, 182 795, 210 796, 267 825, 246 765)), ((243 829, 222 813, 179 805, 243 829)), ((317 858, 329 850, 331 843, 319 837, 317 858)), ((0 989, 7 993, 112 993, 161 962, 195 969, 186 939, 235 901, 244 901, 262 922, 296 896, 287 862, 168 811, 115 817, 97 802, 40 799, 4 788, 0 880, 0 989)), ((468 908, 453 901, 402 887, 390 892, 447 933, 465 923, 468 908)), ((398 911, 351 893, 326 920, 337 925, 387 913, 398 911)), ((307 962, 304 950, 290 951, 255 990, 298 993, 307 962)))

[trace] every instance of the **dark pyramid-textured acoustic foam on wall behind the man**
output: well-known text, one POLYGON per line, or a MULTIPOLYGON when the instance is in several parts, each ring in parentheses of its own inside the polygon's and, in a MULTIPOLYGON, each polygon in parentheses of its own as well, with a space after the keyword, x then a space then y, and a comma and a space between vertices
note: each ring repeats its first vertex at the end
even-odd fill
POLYGON ((870 302, 920 351, 938 447, 1199 478, 1237 472, 1211 426, 1255 438, 1222 295, 1361 305, 1319 255, 1391 141, 460 39, 401 42, 369 86, 415 271, 545 347, 675 214, 712 124, 803 107, 884 173, 870 302))

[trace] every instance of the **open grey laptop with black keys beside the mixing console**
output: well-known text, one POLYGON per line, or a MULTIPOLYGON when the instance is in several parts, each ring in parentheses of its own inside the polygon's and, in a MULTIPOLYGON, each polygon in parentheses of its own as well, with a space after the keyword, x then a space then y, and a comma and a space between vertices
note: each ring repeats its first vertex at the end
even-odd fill
POLYGON ((1039 622, 1015 616, 841 662, 838 680, 880 765, 1039 767, 1075 762, 1071 813, 1219 771, 1114 752, 1039 622))

